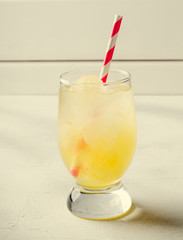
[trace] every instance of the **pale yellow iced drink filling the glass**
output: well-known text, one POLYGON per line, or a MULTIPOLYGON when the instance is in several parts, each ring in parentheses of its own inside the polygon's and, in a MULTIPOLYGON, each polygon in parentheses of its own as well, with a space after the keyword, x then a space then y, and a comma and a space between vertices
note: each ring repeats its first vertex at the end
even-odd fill
POLYGON ((133 95, 123 84, 84 76, 59 93, 58 144, 76 182, 104 189, 120 181, 136 146, 133 95))

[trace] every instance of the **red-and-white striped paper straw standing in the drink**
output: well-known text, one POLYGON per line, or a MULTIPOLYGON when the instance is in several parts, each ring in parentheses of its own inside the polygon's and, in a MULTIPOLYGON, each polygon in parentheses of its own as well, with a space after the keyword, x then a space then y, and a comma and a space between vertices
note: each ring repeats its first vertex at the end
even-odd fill
POLYGON ((105 59, 103 62, 102 70, 100 72, 100 79, 104 83, 106 82, 107 76, 109 73, 109 68, 111 65, 114 48, 116 46, 116 41, 117 41, 120 26, 121 26, 122 18, 123 17, 121 17, 120 15, 115 15, 115 18, 114 18, 114 24, 113 24, 113 28, 112 28, 111 37, 110 37, 108 45, 107 45, 105 59))

